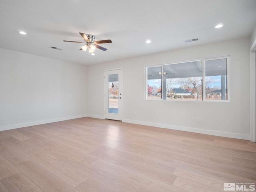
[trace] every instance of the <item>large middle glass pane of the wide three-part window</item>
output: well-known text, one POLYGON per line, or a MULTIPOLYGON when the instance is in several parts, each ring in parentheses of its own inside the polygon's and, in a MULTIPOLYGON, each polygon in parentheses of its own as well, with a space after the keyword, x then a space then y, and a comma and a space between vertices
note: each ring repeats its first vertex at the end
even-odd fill
POLYGON ((165 100, 202 100, 202 61, 163 66, 165 100))

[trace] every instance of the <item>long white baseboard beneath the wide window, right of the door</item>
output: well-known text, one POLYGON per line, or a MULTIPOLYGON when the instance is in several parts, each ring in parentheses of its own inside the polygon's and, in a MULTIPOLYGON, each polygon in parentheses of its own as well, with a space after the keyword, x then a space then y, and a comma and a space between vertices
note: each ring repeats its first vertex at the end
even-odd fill
POLYGON ((201 133, 201 134, 207 134, 207 135, 221 136, 221 137, 229 137, 229 138, 235 138, 235 139, 250 140, 250 135, 244 135, 244 134, 228 133, 228 132, 213 131, 213 130, 204 130, 204 129, 198 129, 198 128, 174 126, 174 125, 168 125, 168 124, 144 122, 144 121, 137 121, 137 120, 130 120, 130 119, 123 119, 123 122, 139 124, 139 125, 147 125, 147 126, 153 126, 153 127, 160 127, 160 128, 166 128, 166 129, 173 129, 173 130, 180 130, 180 131, 188 131, 188 132, 194 132, 194 133, 201 133))

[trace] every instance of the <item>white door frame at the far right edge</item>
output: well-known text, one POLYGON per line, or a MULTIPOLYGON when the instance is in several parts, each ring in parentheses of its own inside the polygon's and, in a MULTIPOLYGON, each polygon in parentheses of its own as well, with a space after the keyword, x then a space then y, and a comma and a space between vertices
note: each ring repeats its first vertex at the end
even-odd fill
POLYGON ((256 142, 256 41, 250 48, 250 141, 256 142))

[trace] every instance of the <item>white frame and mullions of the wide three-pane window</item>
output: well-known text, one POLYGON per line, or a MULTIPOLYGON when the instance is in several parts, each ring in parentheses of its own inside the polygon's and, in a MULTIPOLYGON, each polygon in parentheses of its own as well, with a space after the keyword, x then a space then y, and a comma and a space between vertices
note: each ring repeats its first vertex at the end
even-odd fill
POLYGON ((158 64, 158 65, 151 65, 151 66, 145 66, 145 99, 146 100, 154 100, 154 101, 191 101, 191 102, 230 102, 230 56, 220 56, 220 57, 213 57, 213 58, 204 58, 204 59, 196 59, 196 60, 187 60, 187 61, 181 61, 181 62, 172 62, 172 63, 166 63, 166 64, 158 64), (206 99, 206 91, 205 91, 205 65, 206 65, 206 61, 209 60, 218 60, 218 59, 226 59, 227 63, 226 63, 226 74, 227 74, 227 85, 226 85, 226 89, 227 89, 227 99, 226 100, 219 100, 219 99, 206 99), (164 89, 163 88, 163 82, 164 82, 164 77, 163 77, 163 71, 164 71, 164 66, 165 65, 170 65, 170 64, 180 64, 180 63, 187 63, 187 62, 196 62, 196 61, 201 61, 202 62, 202 100, 167 100, 164 99, 164 89), (148 98, 148 68, 151 67, 159 67, 161 66, 161 94, 162 94, 162 98, 158 98, 158 99, 152 99, 152 98, 148 98))

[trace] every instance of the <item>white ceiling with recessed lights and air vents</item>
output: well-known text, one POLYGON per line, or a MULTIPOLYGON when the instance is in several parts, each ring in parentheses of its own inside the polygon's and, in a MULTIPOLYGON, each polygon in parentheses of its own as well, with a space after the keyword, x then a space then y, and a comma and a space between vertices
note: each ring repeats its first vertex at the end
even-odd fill
POLYGON ((255 26, 256 0, 0 0, 1 48, 86 65, 248 37, 255 26), (83 41, 79 32, 113 43, 89 59, 63 42, 83 41))

